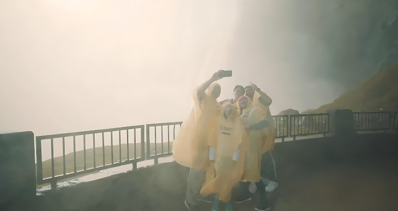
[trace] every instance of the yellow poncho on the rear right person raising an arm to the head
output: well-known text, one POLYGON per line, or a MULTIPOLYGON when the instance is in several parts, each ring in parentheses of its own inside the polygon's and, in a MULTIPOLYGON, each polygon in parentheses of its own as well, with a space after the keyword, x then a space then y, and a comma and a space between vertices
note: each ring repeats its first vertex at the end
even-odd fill
POLYGON ((276 131, 274 126, 274 119, 272 118, 270 107, 263 105, 260 103, 258 98, 261 97, 260 94, 255 91, 253 97, 253 106, 259 107, 265 112, 265 120, 269 122, 269 126, 265 127, 262 131, 263 133, 263 151, 262 153, 266 153, 269 150, 274 149, 275 145, 275 138, 276 138, 276 131))

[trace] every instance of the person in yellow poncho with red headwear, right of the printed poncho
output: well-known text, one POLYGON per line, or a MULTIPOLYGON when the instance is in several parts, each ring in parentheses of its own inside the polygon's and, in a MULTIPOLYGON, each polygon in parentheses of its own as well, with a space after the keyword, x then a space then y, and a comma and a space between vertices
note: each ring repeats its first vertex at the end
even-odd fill
MULTIPOLYGON (((236 106, 240 113, 240 120, 244 126, 250 126, 259 123, 260 121, 265 121, 265 112, 261 108, 253 106, 249 97, 241 96, 236 102, 236 106)), ((245 156, 243 174, 241 178, 242 191, 236 198, 235 202, 241 203, 251 200, 248 187, 251 182, 255 182, 260 192, 260 202, 257 205, 256 210, 267 211, 270 209, 270 206, 267 202, 265 185, 263 181, 261 181, 260 176, 261 156, 264 145, 262 129, 248 130, 247 133, 250 139, 250 145, 245 156)))

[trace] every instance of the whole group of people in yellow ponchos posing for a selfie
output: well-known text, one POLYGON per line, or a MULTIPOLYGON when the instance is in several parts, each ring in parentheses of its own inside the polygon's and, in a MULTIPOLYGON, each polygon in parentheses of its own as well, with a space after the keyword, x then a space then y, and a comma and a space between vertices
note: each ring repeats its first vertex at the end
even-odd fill
POLYGON ((255 210, 267 211, 266 191, 278 186, 272 99, 251 84, 236 85, 233 99, 218 101, 221 86, 216 81, 222 78, 220 70, 195 88, 194 108, 173 142, 174 160, 191 168, 185 205, 198 211, 198 201, 214 202, 212 211, 219 211, 221 201, 232 211, 231 191, 239 183, 235 202, 251 200, 257 189, 260 201, 255 210))

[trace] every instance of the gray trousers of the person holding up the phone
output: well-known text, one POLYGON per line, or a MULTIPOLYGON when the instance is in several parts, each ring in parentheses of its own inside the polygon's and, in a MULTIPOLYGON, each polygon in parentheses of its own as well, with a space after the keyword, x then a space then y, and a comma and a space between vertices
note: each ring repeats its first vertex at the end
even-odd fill
POLYGON ((206 171, 191 169, 188 176, 188 185, 186 187, 185 201, 187 204, 197 206, 197 199, 205 199, 199 192, 206 181, 206 171))

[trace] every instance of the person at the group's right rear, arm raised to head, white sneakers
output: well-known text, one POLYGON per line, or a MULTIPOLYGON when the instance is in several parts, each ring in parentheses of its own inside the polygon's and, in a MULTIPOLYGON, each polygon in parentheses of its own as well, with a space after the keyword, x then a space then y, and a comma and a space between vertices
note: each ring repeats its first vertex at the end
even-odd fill
MULTIPOLYGON (((278 187, 277 181, 277 173, 275 160, 273 155, 273 148, 275 145, 276 131, 274 126, 274 120, 270 112, 270 105, 272 103, 272 99, 255 84, 251 84, 250 86, 245 87, 245 96, 249 97, 253 106, 261 108, 266 114, 265 119, 270 123, 269 127, 263 129, 263 155, 261 162, 261 177, 264 183, 267 185, 265 190, 267 192, 271 192, 278 187)), ((249 189, 254 190, 251 186, 255 185, 250 184, 249 189)))

